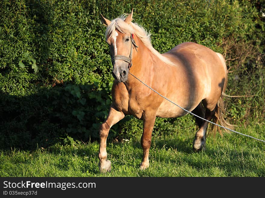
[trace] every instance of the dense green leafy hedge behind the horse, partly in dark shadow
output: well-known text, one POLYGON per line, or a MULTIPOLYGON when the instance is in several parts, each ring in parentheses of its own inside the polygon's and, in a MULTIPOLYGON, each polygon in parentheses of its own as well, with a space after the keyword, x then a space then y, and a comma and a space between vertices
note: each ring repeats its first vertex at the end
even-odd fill
MULTIPOLYGON (((225 55, 225 99, 233 124, 264 122, 264 1, 0 2, 0 145, 32 148, 55 142, 97 140, 108 115, 113 83, 105 27, 134 8, 135 22, 150 30, 164 53, 197 42, 225 55)), ((191 116, 157 118, 154 135, 181 133, 191 116)), ((195 126, 195 125, 194 125, 195 126)), ((191 129, 195 133, 195 127, 191 129)), ((131 138, 142 122, 127 116, 110 138, 131 138), (129 122, 126 122, 130 120, 129 122)))

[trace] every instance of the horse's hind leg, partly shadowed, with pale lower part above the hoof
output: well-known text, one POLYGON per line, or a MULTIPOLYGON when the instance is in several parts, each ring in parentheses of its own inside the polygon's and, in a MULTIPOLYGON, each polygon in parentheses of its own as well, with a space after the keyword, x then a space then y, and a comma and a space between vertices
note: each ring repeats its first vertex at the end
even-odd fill
MULTIPOLYGON (((211 120, 214 117, 215 111, 217 110, 218 106, 217 104, 211 108, 209 108, 209 105, 205 101, 203 101, 206 106, 205 116, 204 119, 211 120)), ((205 143, 206 143, 206 133, 207 133, 207 127, 208 122, 205 120, 202 120, 200 129, 196 132, 195 138, 193 140, 193 150, 194 151, 200 151, 201 149, 205 149, 205 143)))

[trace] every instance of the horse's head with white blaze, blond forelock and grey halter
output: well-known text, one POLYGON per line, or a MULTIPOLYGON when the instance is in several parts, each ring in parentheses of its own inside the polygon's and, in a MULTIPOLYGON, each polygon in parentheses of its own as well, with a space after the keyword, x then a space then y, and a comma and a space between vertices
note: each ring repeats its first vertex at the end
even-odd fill
POLYGON ((127 80, 132 65, 133 47, 137 47, 133 39, 134 30, 129 26, 132 20, 133 10, 124 20, 117 18, 110 21, 101 15, 101 22, 107 26, 106 42, 110 46, 112 75, 118 82, 127 80))

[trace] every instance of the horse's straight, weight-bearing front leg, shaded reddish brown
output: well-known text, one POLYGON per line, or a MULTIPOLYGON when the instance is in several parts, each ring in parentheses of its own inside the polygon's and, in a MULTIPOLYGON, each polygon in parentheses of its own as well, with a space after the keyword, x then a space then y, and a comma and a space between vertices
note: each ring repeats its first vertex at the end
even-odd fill
POLYGON ((149 149, 151 146, 151 136, 154 128, 155 115, 144 116, 143 119, 143 134, 141 137, 141 144, 143 148, 143 159, 140 164, 140 169, 144 170, 149 167, 149 149))

